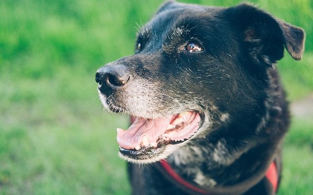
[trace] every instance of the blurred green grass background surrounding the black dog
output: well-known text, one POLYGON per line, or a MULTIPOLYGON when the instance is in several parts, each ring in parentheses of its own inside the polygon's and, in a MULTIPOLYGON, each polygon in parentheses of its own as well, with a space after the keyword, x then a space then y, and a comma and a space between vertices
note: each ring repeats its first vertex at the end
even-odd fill
MULTIPOLYGON (((240 0, 181 0, 236 5, 240 0)), ((0 0, 0 195, 127 195, 116 127, 94 74, 134 52, 137 24, 163 0, 0 0)), ((295 110, 279 195, 313 192, 313 1, 251 0, 303 27, 301 61, 277 68, 295 110)))

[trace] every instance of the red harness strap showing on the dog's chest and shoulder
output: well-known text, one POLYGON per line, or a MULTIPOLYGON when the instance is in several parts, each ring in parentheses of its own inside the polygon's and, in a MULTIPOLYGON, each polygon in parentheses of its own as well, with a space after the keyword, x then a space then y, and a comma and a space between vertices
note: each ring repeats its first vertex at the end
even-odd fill
MULTIPOLYGON (((188 183, 186 180, 180 177, 166 160, 164 159, 160 160, 160 165, 172 179, 174 179, 177 183, 184 186, 191 192, 196 192, 198 194, 203 194, 203 195, 210 194, 210 192, 203 190, 201 188, 198 188, 197 186, 194 186, 193 184, 188 183)), ((268 179, 268 181, 271 183, 273 191, 276 192, 277 185, 278 185, 278 173, 277 173, 277 167, 276 167, 275 162, 272 162, 270 164, 265 176, 268 179)))

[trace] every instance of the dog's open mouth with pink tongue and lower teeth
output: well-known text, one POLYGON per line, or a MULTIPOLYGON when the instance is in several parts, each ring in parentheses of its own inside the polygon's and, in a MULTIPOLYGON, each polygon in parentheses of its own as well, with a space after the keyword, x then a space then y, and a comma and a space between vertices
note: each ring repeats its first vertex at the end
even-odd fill
POLYGON ((196 111, 155 119, 135 117, 126 131, 117 129, 117 142, 123 155, 146 155, 162 146, 186 141, 200 125, 201 115, 196 111))

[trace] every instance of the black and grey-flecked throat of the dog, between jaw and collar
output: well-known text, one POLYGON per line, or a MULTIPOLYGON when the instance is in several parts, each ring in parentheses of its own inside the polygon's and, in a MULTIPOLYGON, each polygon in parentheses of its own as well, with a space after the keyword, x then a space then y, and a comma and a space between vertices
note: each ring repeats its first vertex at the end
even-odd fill
POLYGON ((191 143, 167 160, 179 176, 203 189, 236 185, 264 174, 266 166, 273 160, 274 156, 269 154, 273 154, 277 148, 271 148, 271 143, 264 142, 257 146, 255 143, 224 138, 206 147, 191 143), (268 153, 268 150, 272 152, 268 153), (255 156, 255 159, 251 156, 255 156))

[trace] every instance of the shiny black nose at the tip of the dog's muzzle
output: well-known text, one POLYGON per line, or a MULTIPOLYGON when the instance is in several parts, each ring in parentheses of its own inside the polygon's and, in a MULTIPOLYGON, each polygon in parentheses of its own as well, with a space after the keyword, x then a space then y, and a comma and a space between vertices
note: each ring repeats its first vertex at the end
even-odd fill
POLYGON ((99 90, 102 92, 105 87, 121 87, 125 85, 131 75, 127 67, 122 64, 107 65, 100 68, 95 76, 95 80, 99 83, 99 90))

